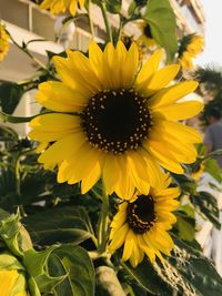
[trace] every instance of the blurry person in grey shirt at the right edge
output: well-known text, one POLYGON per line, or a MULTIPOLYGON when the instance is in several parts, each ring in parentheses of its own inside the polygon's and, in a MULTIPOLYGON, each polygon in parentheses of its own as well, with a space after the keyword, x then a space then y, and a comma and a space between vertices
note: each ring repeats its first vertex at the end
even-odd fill
MULTIPOLYGON (((216 109, 209 111, 208 118, 210 125, 206 127, 203 143, 206 146, 206 153, 222 149, 222 122, 221 112, 216 109)), ((222 157, 215 159, 219 166, 222 167, 222 157)))

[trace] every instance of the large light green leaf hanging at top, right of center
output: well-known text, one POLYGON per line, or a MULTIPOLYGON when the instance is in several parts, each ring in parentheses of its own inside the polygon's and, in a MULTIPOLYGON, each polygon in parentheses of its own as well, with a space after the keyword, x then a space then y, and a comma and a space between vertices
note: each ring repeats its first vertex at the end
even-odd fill
POLYGON ((178 51, 178 40, 175 16, 169 0, 149 0, 144 19, 153 39, 165 49, 168 62, 171 62, 178 51))

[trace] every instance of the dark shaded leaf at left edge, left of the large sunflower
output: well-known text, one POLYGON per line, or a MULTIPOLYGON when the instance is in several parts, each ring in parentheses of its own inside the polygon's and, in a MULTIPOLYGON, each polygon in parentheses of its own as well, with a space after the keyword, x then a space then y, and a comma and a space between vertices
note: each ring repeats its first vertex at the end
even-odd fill
POLYGON ((23 86, 17 83, 0 83, 0 106, 8 114, 12 114, 24 93, 23 86))

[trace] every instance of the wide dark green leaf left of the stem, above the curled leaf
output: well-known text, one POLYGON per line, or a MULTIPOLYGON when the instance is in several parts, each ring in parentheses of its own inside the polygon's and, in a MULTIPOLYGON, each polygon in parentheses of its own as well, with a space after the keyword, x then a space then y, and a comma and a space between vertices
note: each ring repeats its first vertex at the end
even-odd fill
POLYGON ((94 236, 83 207, 64 206, 43 211, 24 218, 32 239, 40 245, 80 244, 94 236))

